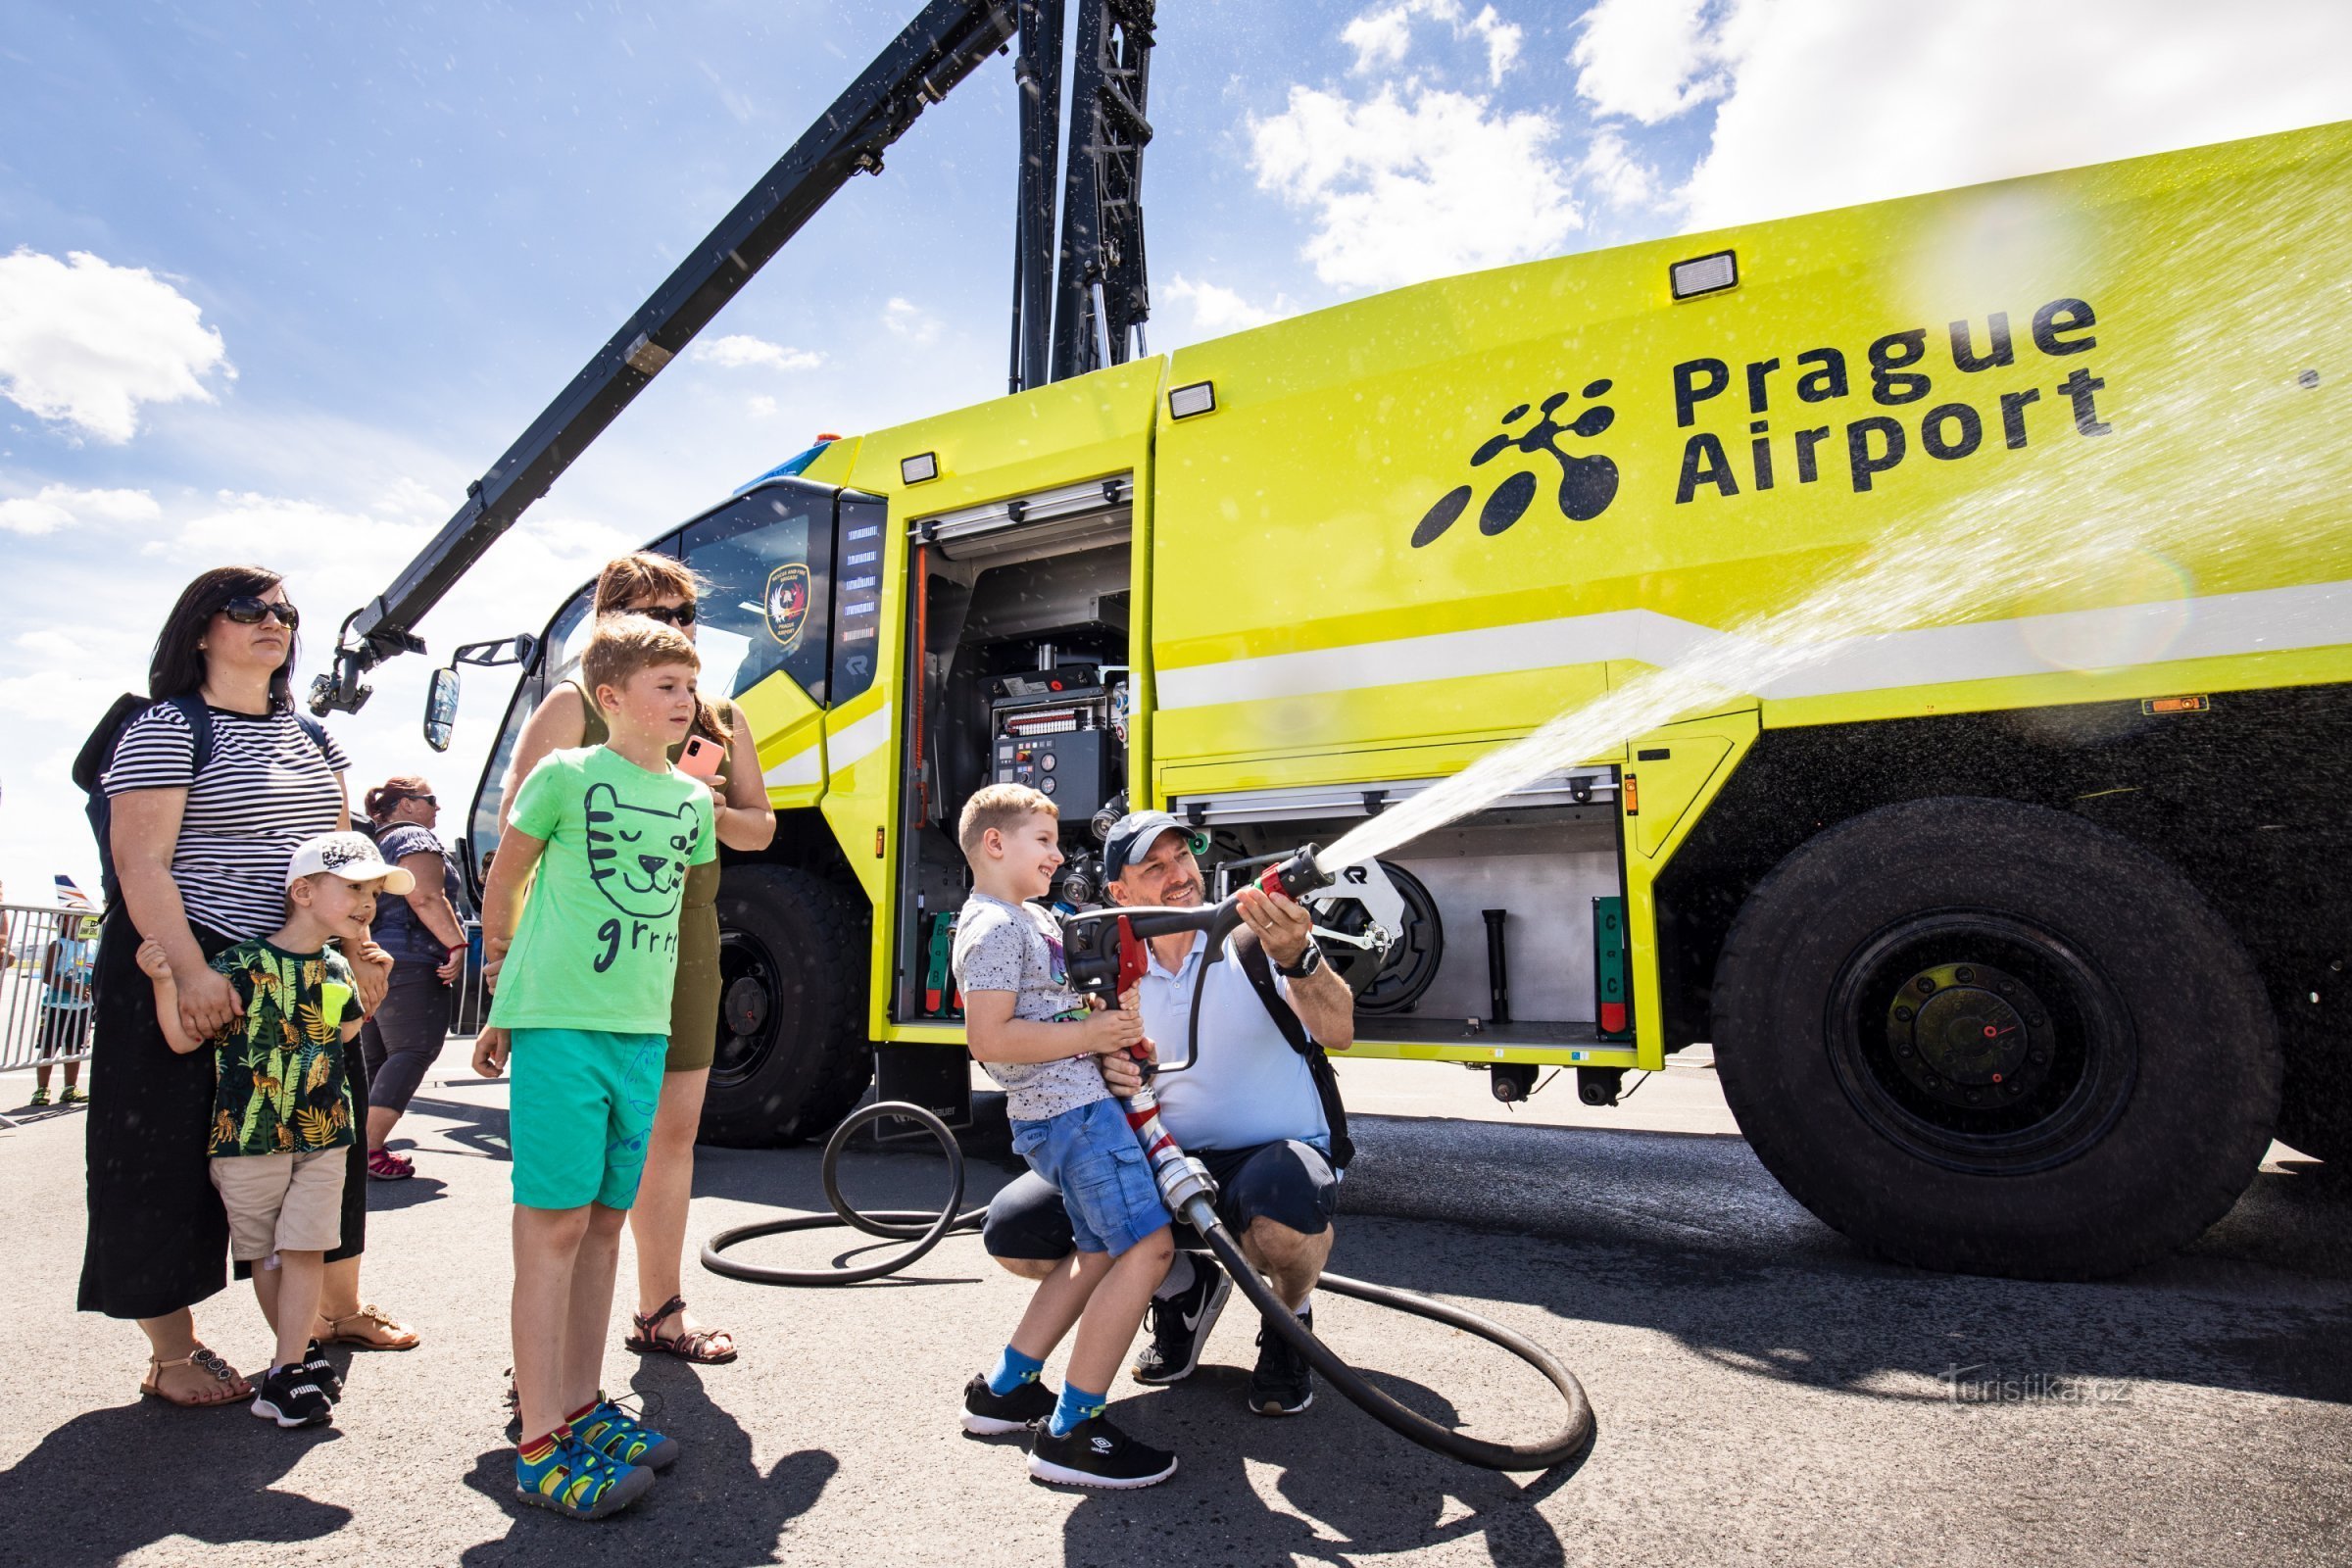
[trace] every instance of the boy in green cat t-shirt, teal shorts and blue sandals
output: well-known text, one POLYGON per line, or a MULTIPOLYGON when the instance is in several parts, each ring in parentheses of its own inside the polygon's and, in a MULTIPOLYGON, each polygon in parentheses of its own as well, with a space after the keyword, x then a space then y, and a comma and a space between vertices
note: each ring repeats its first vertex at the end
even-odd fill
POLYGON ((473 1065, 515 1065, 515 1490, 572 1519, 628 1507, 677 1458, 600 1382, 661 1100, 680 891, 720 853, 710 788, 668 755, 694 722, 696 670, 677 628, 597 621, 581 682, 612 733, 532 769, 482 893, 494 1001, 473 1065))

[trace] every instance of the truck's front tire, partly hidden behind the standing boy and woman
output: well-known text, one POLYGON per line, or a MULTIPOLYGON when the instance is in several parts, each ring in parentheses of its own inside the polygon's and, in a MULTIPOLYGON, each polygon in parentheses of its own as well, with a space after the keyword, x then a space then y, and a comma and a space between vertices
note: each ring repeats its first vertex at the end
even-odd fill
POLYGON ((701 1140, 767 1150, 830 1131, 866 1093, 863 898, 788 865, 720 882, 720 1051, 701 1140))

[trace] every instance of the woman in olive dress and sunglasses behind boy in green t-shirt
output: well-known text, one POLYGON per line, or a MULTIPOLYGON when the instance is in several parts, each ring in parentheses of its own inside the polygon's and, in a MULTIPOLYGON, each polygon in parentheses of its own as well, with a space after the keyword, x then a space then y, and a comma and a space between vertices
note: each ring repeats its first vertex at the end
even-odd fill
MULTIPOLYGON (((694 635, 694 604, 701 581, 675 557, 640 550, 604 562, 595 581, 595 614, 652 616, 694 635)), ((720 769, 710 778, 713 813, 720 844, 727 849, 767 849, 776 837, 776 811, 767 804, 767 780, 760 773, 760 748, 734 703, 703 696, 694 731, 722 748, 720 769)), ((508 766, 499 830, 515 785, 529 778, 539 759, 553 750, 597 745, 604 719, 588 693, 564 682, 546 696, 515 738, 508 766)), ((684 743, 680 743, 684 745, 684 743)), ((673 748, 670 757, 677 759, 673 748)), ((661 1079, 661 1105, 654 1110, 654 1135, 644 1150, 644 1180, 637 1204, 628 1211, 630 1237, 637 1241, 637 1331, 626 1345, 640 1354, 661 1352, 717 1366, 736 1359, 734 1335, 701 1328, 687 1316, 680 1293, 680 1258, 687 1246, 687 1199, 694 1192, 694 1135, 703 1119, 703 1088, 710 1081, 710 1058, 720 1041, 720 867, 687 867, 684 900, 677 912, 677 990, 670 1001, 670 1053, 661 1079)))

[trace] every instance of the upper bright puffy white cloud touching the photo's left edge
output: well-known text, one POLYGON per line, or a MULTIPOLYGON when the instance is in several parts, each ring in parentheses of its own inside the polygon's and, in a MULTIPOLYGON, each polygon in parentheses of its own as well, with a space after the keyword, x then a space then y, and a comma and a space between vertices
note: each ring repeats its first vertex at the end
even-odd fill
POLYGON ((0 395, 28 414, 120 444, 143 402, 212 402, 205 376, 235 376, 226 353, 198 303, 146 268, 0 256, 0 395))

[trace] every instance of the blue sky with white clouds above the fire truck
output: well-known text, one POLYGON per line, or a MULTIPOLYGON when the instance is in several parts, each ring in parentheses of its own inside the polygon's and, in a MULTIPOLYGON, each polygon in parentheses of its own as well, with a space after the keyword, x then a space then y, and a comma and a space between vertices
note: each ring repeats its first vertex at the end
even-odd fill
MULTIPOLYGON (((205 567, 303 679, 917 0, 0 0, 0 884, 96 886, 73 752, 205 567)), ((1075 16, 1075 5, 1070 7, 1075 16)), ((1155 350, 1425 277, 2352 120, 2343 0, 1162 0, 1155 350)), ((990 61, 435 609, 539 630, 809 444, 1004 390, 990 61)), ((510 691, 426 658, 332 726, 463 806, 510 691)), ((461 811, 445 825, 459 827, 461 811)))

